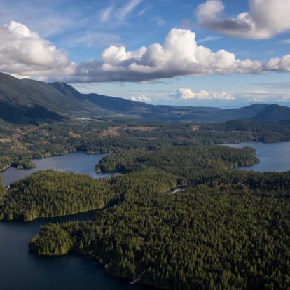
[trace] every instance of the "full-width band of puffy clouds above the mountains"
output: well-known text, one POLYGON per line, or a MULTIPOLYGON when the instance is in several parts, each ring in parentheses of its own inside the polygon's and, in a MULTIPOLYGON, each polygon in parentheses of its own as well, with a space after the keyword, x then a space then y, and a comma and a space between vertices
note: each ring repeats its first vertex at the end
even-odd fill
POLYGON ((141 82, 205 74, 262 74, 290 71, 290 55, 268 62, 240 60, 226 50, 198 45, 195 33, 171 29, 163 44, 137 50, 109 46, 100 60, 74 64, 53 43, 12 21, 0 27, 0 71, 69 83, 141 82))

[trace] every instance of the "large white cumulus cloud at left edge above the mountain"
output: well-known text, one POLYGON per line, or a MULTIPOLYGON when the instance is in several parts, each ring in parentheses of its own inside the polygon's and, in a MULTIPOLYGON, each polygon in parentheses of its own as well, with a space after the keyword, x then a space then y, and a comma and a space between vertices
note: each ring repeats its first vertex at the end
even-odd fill
POLYGON ((0 71, 19 76, 60 76, 71 72, 67 55, 21 23, 0 27, 0 71))

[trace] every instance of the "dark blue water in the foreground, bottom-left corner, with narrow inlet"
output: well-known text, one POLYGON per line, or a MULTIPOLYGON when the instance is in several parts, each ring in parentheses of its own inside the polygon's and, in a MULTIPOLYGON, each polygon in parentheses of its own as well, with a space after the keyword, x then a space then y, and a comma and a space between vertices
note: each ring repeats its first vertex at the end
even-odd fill
POLYGON ((87 220, 93 213, 55 219, 0 222, 0 289, 2 290, 95 290, 145 289, 141 285, 106 274, 101 265, 78 254, 38 256, 29 253, 28 241, 48 221, 87 220))

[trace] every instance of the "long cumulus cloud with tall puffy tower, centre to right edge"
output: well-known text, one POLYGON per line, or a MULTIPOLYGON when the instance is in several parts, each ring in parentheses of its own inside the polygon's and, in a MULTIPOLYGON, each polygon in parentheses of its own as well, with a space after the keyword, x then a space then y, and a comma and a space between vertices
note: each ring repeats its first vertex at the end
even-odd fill
POLYGON ((151 81, 182 75, 262 74, 268 71, 290 71, 290 55, 269 62, 237 59, 226 50, 216 52, 195 41, 187 29, 171 29, 163 44, 153 43, 138 50, 109 46, 101 60, 78 64, 72 81, 151 81))

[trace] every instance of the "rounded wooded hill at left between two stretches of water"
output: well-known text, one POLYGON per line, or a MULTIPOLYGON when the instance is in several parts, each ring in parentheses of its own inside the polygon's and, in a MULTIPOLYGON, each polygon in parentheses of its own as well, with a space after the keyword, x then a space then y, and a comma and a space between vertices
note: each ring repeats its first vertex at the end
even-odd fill
POLYGON ((64 216, 99 209, 109 204, 113 193, 106 179, 96 180, 83 174, 36 172, 11 184, 0 207, 0 219, 64 216))

